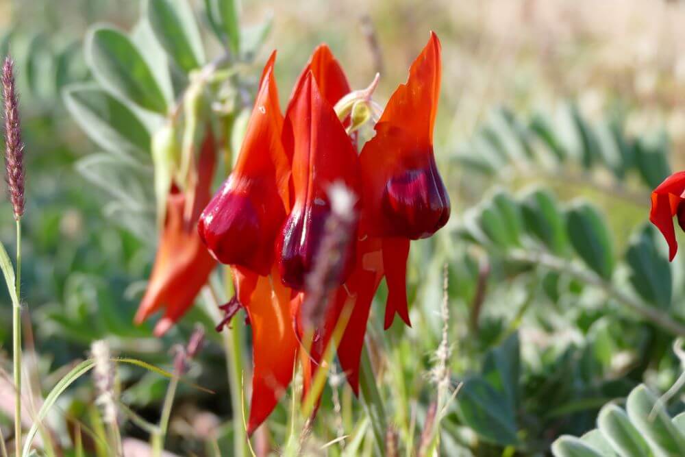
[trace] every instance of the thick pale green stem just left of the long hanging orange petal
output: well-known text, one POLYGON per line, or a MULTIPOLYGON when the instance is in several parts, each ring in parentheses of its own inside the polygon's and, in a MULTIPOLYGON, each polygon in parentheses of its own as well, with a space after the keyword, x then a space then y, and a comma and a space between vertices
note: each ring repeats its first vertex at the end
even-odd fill
POLYGON ((231 408, 233 409, 234 456, 247 456, 247 432, 242 415, 242 325, 234 317, 230 328, 221 332, 225 347, 228 384, 231 389, 231 408))

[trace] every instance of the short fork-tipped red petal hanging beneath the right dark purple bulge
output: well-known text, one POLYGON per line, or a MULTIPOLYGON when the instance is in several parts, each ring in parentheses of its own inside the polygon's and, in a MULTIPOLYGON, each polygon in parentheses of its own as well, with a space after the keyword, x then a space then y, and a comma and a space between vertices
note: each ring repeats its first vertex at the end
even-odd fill
POLYGON ((412 326, 407 308, 407 258, 409 257, 409 240, 407 238, 383 238, 383 267, 386 284, 388 284, 388 301, 386 303, 385 330, 393 325, 395 313, 404 323, 412 326))

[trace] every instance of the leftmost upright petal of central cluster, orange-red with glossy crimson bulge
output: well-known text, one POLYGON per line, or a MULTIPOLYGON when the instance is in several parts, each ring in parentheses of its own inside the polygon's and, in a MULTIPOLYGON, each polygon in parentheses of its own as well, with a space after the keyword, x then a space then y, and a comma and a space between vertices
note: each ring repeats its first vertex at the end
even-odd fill
POLYGON ((267 62, 236 166, 202 213, 199 233, 222 263, 268 275, 288 209, 290 165, 281 143, 283 116, 267 62))

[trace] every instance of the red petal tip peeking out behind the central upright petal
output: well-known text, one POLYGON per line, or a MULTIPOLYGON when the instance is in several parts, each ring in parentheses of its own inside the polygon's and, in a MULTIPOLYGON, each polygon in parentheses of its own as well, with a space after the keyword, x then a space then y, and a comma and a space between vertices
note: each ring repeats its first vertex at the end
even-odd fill
POLYGON ((314 49, 309 62, 307 62, 302 73, 297 77, 295 88, 293 88, 290 95, 291 100, 295 98, 297 88, 302 85, 310 71, 314 76, 316 85, 319 86, 319 92, 321 92, 321 95, 323 95, 323 98, 326 99, 330 106, 335 106, 338 100, 345 97, 351 91, 343 67, 340 66, 331 49, 322 43, 314 49))

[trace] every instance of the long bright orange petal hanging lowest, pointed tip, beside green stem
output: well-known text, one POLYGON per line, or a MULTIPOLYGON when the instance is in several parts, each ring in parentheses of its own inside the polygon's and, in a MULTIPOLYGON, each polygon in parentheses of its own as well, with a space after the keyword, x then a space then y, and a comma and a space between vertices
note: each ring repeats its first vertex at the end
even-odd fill
POLYGON ((290 323, 290 291, 277 271, 260 276, 245 309, 252 328, 253 378, 247 433, 269 417, 284 395, 295 366, 297 339, 290 323), (273 289, 272 289, 273 285, 273 289))

